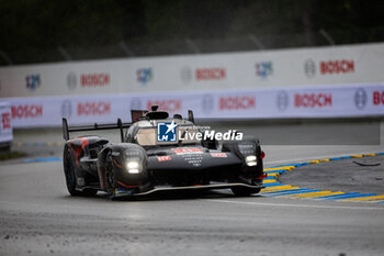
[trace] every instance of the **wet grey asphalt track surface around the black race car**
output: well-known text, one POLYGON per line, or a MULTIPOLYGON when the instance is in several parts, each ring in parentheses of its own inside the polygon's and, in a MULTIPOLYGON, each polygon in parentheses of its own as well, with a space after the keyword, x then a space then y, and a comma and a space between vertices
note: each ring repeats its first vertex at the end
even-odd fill
MULTIPOLYGON (((383 126, 381 129, 383 134, 383 126)), ((16 142, 56 142, 24 132, 16 142)), ((384 152, 381 145, 269 145, 266 166, 384 152)), ((30 158, 60 157, 34 146, 30 158)), ((0 166, 0 255, 383 255, 384 204, 236 198, 229 191, 110 201, 72 198, 60 162, 0 166)), ((336 164, 336 162, 335 162, 336 164)), ((284 176, 282 176, 284 177, 284 176)))

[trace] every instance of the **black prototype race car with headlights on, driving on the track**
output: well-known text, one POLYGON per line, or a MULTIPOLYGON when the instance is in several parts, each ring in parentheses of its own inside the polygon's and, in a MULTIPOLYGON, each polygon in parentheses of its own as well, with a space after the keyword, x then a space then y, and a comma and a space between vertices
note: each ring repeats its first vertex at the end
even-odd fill
MULTIPOLYGON (((72 196, 99 190, 111 198, 144 196, 162 190, 230 188, 237 196, 262 188, 263 152, 258 140, 225 141, 200 131, 180 114, 132 110, 133 122, 68 127, 63 119, 64 172, 72 196), (69 137, 71 132, 120 130, 121 143, 98 135, 69 137), (201 140, 191 136, 200 133, 201 140)), ((236 132, 234 132, 236 133, 236 132)))

